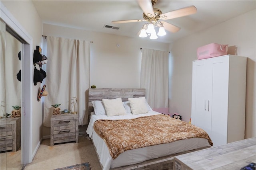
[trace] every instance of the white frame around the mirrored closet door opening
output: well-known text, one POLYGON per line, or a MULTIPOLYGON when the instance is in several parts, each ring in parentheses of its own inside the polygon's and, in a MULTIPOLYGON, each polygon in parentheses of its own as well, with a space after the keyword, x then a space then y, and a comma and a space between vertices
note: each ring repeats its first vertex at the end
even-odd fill
POLYGON ((28 164, 32 162, 32 37, 20 25, 20 23, 0 2, 1 19, 8 25, 16 35, 22 38, 26 43, 23 44, 24 52, 21 53, 22 61, 22 116, 21 116, 21 163, 28 164))

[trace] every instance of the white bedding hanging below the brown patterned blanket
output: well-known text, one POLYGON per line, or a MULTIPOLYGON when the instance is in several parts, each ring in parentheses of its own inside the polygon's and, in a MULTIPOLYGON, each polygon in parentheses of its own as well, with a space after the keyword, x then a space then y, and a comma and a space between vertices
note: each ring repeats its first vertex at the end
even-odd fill
POLYGON ((93 133, 91 139, 96 148, 96 152, 100 157, 100 163, 103 166, 103 170, 137 164, 145 160, 159 158, 161 156, 167 156, 188 150, 210 147, 207 139, 191 138, 175 141, 172 143, 126 150, 116 159, 112 159, 108 147, 101 137, 99 137, 96 133, 93 133))

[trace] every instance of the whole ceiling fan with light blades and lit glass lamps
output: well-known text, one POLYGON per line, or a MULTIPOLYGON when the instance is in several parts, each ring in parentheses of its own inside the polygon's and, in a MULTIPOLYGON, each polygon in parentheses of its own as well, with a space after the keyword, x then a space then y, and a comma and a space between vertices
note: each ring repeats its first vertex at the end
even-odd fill
POLYGON ((158 8, 154 8, 157 0, 137 0, 140 8, 143 11, 143 18, 138 20, 119 20, 119 21, 112 21, 112 23, 129 23, 129 22, 141 22, 141 21, 148 21, 145 23, 140 30, 140 37, 147 37, 150 36, 150 39, 156 39, 156 31, 154 27, 159 27, 159 32, 157 35, 166 35, 165 29, 172 33, 178 32, 180 27, 168 23, 166 21, 158 21, 158 20, 170 20, 173 18, 179 18, 183 16, 188 16, 191 14, 195 14, 197 9, 195 6, 188 6, 186 8, 181 8, 178 10, 170 11, 167 13, 162 14, 162 11, 158 8))

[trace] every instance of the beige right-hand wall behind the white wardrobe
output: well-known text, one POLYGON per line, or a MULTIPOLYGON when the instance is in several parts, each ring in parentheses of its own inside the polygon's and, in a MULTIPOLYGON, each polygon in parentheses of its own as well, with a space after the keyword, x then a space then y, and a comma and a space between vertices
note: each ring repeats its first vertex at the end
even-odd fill
MULTIPOLYGON (((246 138, 256 136, 256 12, 232 18, 214 27, 184 37, 170 44, 169 111, 191 116, 192 61, 197 60, 196 49, 209 43, 236 47, 236 55, 248 57, 246 80, 246 138)), ((221 118, 220 118, 221 119, 221 118)))

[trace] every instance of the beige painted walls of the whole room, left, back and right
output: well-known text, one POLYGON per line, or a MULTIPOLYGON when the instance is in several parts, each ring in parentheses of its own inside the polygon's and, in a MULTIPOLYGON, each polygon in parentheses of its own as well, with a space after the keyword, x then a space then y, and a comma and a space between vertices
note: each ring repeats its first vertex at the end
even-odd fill
MULTIPOLYGON (((256 52, 255 10, 214 27, 182 38, 168 47, 166 43, 96 33, 93 31, 58 27, 44 24, 31 1, 4 1, 16 20, 33 38, 33 49, 42 46, 41 35, 93 41, 91 44, 90 84, 98 88, 136 88, 140 77, 140 47, 172 51, 170 57, 170 112, 178 112, 189 121, 191 115, 192 61, 196 60, 196 48, 207 43, 224 43, 237 47, 237 55, 248 57, 246 92, 246 138, 255 136, 256 103, 256 52), (44 32, 42 31, 44 30, 44 32), (120 47, 116 47, 119 44, 120 47)), ((32 83, 32 82, 30 82, 32 83)), ((42 137, 42 104, 36 96, 40 84, 33 86, 32 96, 32 149, 42 137)), ((49 135, 46 131, 46 135, 49 135)))

